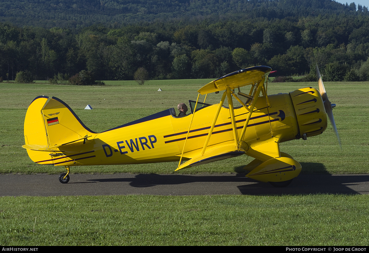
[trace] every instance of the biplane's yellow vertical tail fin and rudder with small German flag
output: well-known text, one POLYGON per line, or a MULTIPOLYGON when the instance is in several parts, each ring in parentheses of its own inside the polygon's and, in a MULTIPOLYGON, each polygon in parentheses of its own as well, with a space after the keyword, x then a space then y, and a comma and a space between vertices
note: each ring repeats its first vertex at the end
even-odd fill
POLYGON ((54 164, 50 155, 53 147, 83 140, 91 134, 95 133, 62 100, 40 96, 32 101, 25 116, 23 148, 32 161, 54 164))

